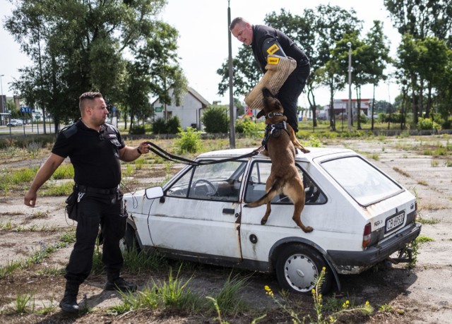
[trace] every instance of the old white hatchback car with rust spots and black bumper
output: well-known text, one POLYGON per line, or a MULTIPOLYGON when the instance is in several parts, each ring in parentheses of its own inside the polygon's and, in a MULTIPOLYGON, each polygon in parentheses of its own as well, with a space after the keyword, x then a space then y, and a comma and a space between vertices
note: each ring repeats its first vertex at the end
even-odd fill
POLYGON ((333 283, 340 289, 338 275, 359 274, 388 258, 408 262, 421 229, 415 197, 352 150, 310 150, 295 161, 306 196, 302 221, 313 232, 297 227, 283 195, 273 198, 261 225, 266 205, 244 205, 265 193, 270 159, 244 157, 251 149, 220 150, 196 160, 223 162, 187 166, 163 187, 126 194, 124 243, 182 260, 275 272, 281 287, 299 293, 311 292, 323 267, 325 293, 333 283))

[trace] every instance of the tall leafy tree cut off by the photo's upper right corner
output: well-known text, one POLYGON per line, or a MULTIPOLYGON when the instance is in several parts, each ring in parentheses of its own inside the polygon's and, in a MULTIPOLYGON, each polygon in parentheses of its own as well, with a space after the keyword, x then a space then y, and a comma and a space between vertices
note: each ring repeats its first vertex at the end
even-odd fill
MULTIPOLYGON (((402 34, 403 42, 398 49, 398 71, 400 77, 399 83, 403 84, 407 102, 406 107, 411 106, 413 112, 413 120, 417 124, 417 119, 424 112, 424 92, 427 87, 427 103, 425 104, 425 112, 430 113, 432 109, 432 95, 434 93, 433 84, 428 78, 432 78, 434 71, 442 73, 447 66, 444 65, 442 55, 440 59, 442 66, 432 66, 436 62, 427 62, 432 56, 429 52, 435 52, 436 49, 429 46, 437 47, 439 44, 427 41, 427 38, 437 37, 444 40, 444 44, 448 49, 452 48, 452 3, 449 0, 385 0, 384 4, 391 14, 393 25, 398 28, 402 34), (423 60, 425 66, 420 64, 423 60), (432 70, 432 68, 434 70, 432 70), (429 88, 431 86, 432 88, 429 88), (408 97, 410 92, 411 97, 408 97)), ((434 38, 433 38, 434 39, 434 38)), ((433 60, 435 61, 435 60, 433 60)), ((446 70, 447 71, 447 70, 446 70)), ((447 79, 446 79, 447 80, 447 79)), ((441 85, 439 85, 441 87, 441 85)), ((446 86, 451 87, 451 84, 446 86)), ((441 99, 440 99, 441 100, 441 99)), ((441 104, 443 106, 443 104, 441 104)))

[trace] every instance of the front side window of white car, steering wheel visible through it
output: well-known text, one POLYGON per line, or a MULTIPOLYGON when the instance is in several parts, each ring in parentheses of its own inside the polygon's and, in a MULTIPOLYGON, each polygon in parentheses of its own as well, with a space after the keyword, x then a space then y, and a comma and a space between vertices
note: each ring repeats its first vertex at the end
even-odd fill
POLYGON ((229 161, 193 167, 167 190, 166 196, 239 201, 239 180, 245 164, 229 161))

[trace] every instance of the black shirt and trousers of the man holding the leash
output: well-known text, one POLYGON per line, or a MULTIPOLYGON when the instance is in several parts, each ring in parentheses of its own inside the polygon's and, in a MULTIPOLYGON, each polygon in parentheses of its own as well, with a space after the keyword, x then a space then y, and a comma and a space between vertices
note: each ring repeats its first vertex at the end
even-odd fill
POLYGON ((75 191, 78 191, 76 244, 66 267, 66 280, 81 284, 93 266, 95 241, 102 228, 102 262, 107 280, 114 281, 124 259, 119 240, 124 236, 126 217, 122 206, 119 150, 125 144, 118 129, 103 124, 97 132, 81 120, 63 128, 52 153, 71 159, 75 191))

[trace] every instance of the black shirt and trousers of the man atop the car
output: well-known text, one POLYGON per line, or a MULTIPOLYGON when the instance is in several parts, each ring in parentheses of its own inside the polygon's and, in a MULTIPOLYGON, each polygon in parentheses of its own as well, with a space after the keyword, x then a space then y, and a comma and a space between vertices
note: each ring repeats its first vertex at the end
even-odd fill
POLYGON ((253 25, 251 48, 253 49, 254 59, 261 66, 263 73, 266 73, 265 67, 268 54, 290 56, 297 61, 297 68, 290 73, 290 76, 276 95, 281 104, 283 104, 287 122, 297 133, 297 100, 309 76, 308 56, 283 32, 266 25, 253 25))

